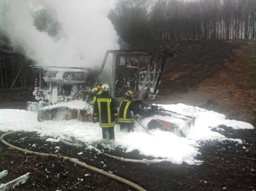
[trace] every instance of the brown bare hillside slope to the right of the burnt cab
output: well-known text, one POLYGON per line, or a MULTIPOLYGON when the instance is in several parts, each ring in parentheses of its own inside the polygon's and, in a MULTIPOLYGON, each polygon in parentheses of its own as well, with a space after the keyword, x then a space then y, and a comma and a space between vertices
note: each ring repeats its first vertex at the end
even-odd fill
POLYGON ((166 45, 178 54, 165 65, 154 102, 198 106, 256 125, 256 41, 166 45))

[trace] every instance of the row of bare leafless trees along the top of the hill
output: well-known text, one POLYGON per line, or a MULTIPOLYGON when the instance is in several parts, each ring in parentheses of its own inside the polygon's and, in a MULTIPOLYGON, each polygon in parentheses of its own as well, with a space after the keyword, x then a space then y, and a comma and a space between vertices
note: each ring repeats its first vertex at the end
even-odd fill
POLYGON ((108 17, 123 48, 158 40, 256 38, 256 0, 118 0, 115 5, 108 17))

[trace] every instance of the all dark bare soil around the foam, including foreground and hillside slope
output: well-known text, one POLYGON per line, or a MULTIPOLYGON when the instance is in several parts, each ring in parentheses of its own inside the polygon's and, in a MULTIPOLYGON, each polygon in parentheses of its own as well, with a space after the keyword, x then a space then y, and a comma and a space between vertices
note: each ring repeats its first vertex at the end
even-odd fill
MULTIPOLYGON (((176 50, 178 55, 167 60, 156 98, 145 102, 198 106, 256 126, 256 41, 175 41, 165 42, 165 46, 176 50)), ((32 92, 33 88, 1 90, 0 108, 25 110, 26 102, 34 101, 32 92)), ((129 159, 152 158, 137 151, 104 149, 101 145, 97 149, 102 154, 97 154, 95 150, 46 142, 49 137, 36 132, 17 132, 4 140, 41 153, 56 154, 58 146, 59 155, 111 172, 145 190, 255 190, 256 129, 220 128, 225 130, 221 134, 241 139, 243 144, 201 142, 202 154, 196 158, 204 161, 201 165, 122 162, 105 153, 129 159)), ((0 135, 4 133, 0 131, 0 135)), ((27 182, 15 190, 134 190, 63 158, 25 154, 3 143, 0 151, 0 172, 9 172, 1 178, 1 183, 30 172, 27 182)))

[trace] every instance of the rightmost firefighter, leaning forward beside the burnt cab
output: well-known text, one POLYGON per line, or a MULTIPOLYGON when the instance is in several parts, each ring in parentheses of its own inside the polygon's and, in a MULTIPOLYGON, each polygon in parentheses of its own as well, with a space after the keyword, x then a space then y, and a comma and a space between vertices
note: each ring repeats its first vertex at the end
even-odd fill
POLYGON ((133 115, 139 119, 139 115, 137 112, 137 108, 135 106, 134 101, 132 100, 133 92, 131 90, 128 90, 125 95, 127 95, 126 98, 123 98, 120 103, 119 112, 118 112, 118 123, 120 125, 120 130, 124 130, 127 128, 128 132, 133 132, 133 122, 131 117, 131 111, 133 112, 133 115))

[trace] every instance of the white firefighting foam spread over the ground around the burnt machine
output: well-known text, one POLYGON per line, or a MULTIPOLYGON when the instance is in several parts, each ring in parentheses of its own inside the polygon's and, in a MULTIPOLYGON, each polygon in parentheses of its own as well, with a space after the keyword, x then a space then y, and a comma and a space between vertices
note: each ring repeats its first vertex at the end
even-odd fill
MULTIPOLYGON (((75 102, 67 102, 67 107, 75 108, 75 102)), ((79 102, 80 106, 81 103, 79 102)), ((56 105, 55 105, 56 106, 56 105)), ((138 150, 141 155, 152 156, 155 162, 167 161, 173 164, 201 164, 203 161, 197 160, 200 155, 200 145, 204 141, 235 141, 237 144, 244 145, 243 148, 250 151, 250 145, 243 143, 243 140, 228 138, 222 135, 224 129, 219 125, 226 125, 233 129, 253 129, 251 124, 236 120, 227 120, 225 115, 207 111, 203 108, 187 106, 184 104, 161 105, 167 110, 173 110, 178 113, 186 113, 197 116, 194 126, 187 128, 183 120, 169 116, 147 117, 141 122, 147 124, 153 118, 164 119, 174 122, 184 132, 186 137, 180 137, 170 131, 162 131, 159 128, 153 129, 150 134, 146 132, 136 122, 134 132, 128 133, 127 130, 120 131, 120 126, 115 125, 115 143, 118 147, 124 148, 129 156, 129 152, 138 150), (217 132, 214 131, 217 129, 217 132), (162 159, 158 159, 162 158, 162 159)), ((57 106, 56 106, 57 107, 57 106)), ((61 137, 70 141, 70 137, 75 137, 83 142, 97 142, 102 139, 102 131, 98 122, 81 122, 76 119, 69 121, 37 121, 37 113, 25 110, 0 110, 0 131, 37 131, 41 136, 52 136, 54 139, 61 137), (13 120, 13 116, 15 120, 13 120)), ((127 157, 128 158, 128 157, 127 157)))

